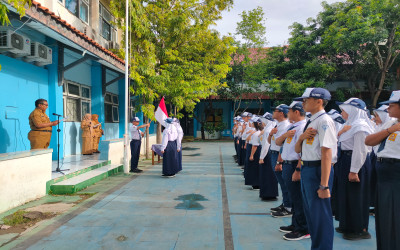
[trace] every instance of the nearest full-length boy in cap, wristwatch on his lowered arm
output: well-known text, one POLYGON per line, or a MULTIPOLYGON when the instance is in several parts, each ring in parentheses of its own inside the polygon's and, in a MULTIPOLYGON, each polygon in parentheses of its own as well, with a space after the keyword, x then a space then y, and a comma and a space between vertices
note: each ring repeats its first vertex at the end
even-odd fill
POLYGON ((303 208, 308 231, 311 235, 311 249, 333 248, 333 219, 330 204, 332 188, 332 159, 337 155, 337 135, 332 118, 324 107, 331 94, 323 88, 307 88, 302 97, 303 108, 312 116, 299 136, 295 151, 301 153, 301 187, 303 208))

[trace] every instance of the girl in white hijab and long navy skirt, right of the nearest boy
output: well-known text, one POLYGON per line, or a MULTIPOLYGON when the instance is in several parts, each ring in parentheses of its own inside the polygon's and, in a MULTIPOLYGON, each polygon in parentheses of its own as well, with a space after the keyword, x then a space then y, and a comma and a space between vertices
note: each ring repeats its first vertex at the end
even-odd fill
POLYGON ((338 160, 337 218, 339 227, 347 240, 369 239, 369 172, 370 148, 365 138, 374 132, 368 118, 365 103, 350 98, 338 103, 345 126, 339 132, 340 157, 338 160))

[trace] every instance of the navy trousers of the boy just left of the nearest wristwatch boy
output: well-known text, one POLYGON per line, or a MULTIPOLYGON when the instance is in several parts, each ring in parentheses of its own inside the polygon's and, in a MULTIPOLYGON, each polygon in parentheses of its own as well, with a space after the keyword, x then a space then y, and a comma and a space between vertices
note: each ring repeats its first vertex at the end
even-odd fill
POLYGON ((301 183, 300 181, 292 181, 292 175, 296 170, 296 166, 297 163, 283 164, 282 177, 288 188, 289 196, 292 201, 292 225, 295 227, 295 231, 308 233, 307 220, 303 209, 301 183))

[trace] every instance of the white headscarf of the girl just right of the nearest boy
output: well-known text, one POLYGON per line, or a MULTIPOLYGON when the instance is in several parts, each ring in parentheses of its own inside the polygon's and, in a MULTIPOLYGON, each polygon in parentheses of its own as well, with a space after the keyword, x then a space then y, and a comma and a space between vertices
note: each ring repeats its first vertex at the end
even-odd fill
POLYGON ((364 131, 368 134, 374 133, 374 125, 368 117, 365 110, 359 109, 349 104, 341 104, 339 106, 349 115, 344 125, 350 125, 351 129, 343 133, 339 137, 339 142, 346 141, 352 138, 356 133, 364 131))

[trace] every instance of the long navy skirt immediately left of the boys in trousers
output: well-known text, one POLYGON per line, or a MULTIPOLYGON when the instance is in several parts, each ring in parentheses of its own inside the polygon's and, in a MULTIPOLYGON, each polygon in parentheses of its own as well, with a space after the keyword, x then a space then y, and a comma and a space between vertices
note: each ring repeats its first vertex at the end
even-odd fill
POLYGON ((276 198, 278 196, 278 181, 271 167, 271 151, 264 157, 264 163, 259 167, 260 198, 276 198))

